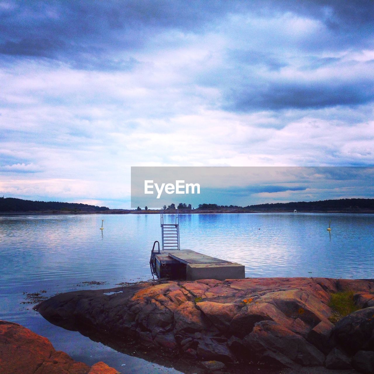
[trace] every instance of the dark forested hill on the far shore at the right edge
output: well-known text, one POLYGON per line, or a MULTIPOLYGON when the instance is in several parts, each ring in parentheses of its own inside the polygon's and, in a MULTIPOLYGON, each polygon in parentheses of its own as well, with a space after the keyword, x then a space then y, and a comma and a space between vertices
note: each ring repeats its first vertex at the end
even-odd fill
POLYGON ((248 205, 246 211, 256 212, 284 212, 296 209, 300 212, 365 212, 374 211, 374 199, 338 199, 322 201, 299 201, 291 203, 274 203, 248 205))

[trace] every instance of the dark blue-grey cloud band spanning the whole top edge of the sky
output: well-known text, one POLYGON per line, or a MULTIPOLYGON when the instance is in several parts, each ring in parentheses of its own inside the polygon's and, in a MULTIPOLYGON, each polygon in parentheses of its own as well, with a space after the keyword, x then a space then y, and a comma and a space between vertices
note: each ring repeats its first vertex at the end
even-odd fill
POLYGON ((345 43, 373 28, 372 1, 24 1, 0 13, 0 51, 10 55, 75 59, 132 50, 176 29, 215 29, 230 14, 263 17, 284 12, 318 19, 345 43))

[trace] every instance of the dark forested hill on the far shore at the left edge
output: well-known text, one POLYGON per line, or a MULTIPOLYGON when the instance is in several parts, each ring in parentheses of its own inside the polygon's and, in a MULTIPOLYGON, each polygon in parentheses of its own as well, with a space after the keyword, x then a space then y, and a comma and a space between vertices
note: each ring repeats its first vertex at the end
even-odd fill
POLYGON ((45 212, 45 211, 74 211, 100 212, 107 211, 106 206, 95 206, 81 203, 62 203, 57 201, 31 201, 0 197, 0 212, 45 212))

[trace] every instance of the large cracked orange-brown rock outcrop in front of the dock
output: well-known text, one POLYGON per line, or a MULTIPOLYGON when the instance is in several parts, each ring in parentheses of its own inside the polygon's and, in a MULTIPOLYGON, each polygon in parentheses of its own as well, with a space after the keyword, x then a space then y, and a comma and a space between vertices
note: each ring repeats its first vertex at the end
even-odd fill
POLYGON ((161 281, 68 292, 34 309, 67 329, 200 361, 374 373, 374 280, 161 281), (336 322, 331 295, 346 290, 360 309, 336 322))

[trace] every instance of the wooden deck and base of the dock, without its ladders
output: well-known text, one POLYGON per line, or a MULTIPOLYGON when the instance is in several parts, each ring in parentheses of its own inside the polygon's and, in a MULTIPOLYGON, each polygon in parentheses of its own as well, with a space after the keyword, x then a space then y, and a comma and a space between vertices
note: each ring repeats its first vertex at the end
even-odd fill
POLYGON ((154 253, 156 273, 159 278, 175 279, 243 279, 244 265, 233 263, 202 253, 182 250, 164 250, 154 253))

